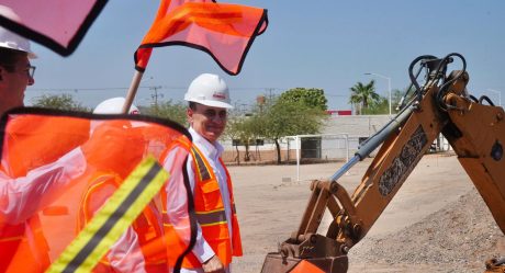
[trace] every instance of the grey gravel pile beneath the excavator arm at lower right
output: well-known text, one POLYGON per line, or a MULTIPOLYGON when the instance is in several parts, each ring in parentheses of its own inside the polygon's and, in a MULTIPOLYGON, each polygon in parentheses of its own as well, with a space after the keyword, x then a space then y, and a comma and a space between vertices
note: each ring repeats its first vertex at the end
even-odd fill
POLYGON ((472 190, 423 220, 349 252, 349 272, 483 272, 505 255, 505 236, 472 190))

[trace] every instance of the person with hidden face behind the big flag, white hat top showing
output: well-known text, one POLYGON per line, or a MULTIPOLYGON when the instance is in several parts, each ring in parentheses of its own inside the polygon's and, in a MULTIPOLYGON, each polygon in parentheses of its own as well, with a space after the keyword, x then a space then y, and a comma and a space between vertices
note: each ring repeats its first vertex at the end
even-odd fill
MULTIPOLYGON (((112 98, 97 105, 94 114, 120 114, 125 102, 124 98, 112 98)), ((138 109, 132 105, 128 114, 139 114, 138 109)), ((93 126, 92 126, 93 127, 93 126)), ((142 128, 138 128, 141 130, 142 128)), ((137 160, 144 153, 144 136, 134 132, 130 122, 119 123, 111 126, 110 123, 99 125, 93 130, 93 138, 98 140, 114 141, 114 147, 120 150, 97 150, 98 155, 89 155, 91 163, 100 166, 89 180, 85 191, 77 219, 77 230, 81 230, 92 219, 120 187, 124 179, 138 163, 137 160), (128 138, 120 134, 130 130, 128 138), (114 137, 116 135, 117 137, 114 137), (113 139, 113 140, 112 140, 113 139), (121 143, 123 141, 123 143, 121 143), (124 147, 131 147, 126 151, 124 147), (102 152, 106 152, 104 157, 102 152)), ((92 144, 87 144, 92 145, 92 144)), ((86 146, 86 145, 85 145, 86 146)), ((86 150, 86 148, 83 148, 86 150)), ((143 213, 135 219, 121 238, 114 243, 111 250, 101 259, 93 272, 168 272, 167 252, 162 238, 161 214, 156 204, 150 202, 143 213)))

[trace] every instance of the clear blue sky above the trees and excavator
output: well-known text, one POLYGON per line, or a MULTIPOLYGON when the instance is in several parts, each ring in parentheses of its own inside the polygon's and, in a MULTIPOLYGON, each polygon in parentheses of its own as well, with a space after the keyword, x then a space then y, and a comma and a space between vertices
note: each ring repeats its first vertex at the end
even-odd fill
MULTIPOLYGON (((268 30, 256 38, 243 70, 228 76, 203 52, 170 46, 154 50, 135 103, 181 101, 202 72, 222 75, 237 105, 260 94, 295 87, 322 88, 329 109, 346 110, 349 88, 391 78, 392 89, 408 86, 407 68, 420 55, 462 54, 469 90, 497 103, 505 92, 505 1, 221 1, 268 9, 268 30)), ((149 29, 158 1, 110 0, 77 50, 67 58, 34 45, 35 86, 25 101, 44 93, 70 93, 85 105, 125 95, 134 73, 133 53, 149 29)), ((457 67, 454 67, 457 69, 457 67)), ((388 81, 377 92, 388 95, 388 81)), ((505 103, 505 98, 503 99, 505 103)))

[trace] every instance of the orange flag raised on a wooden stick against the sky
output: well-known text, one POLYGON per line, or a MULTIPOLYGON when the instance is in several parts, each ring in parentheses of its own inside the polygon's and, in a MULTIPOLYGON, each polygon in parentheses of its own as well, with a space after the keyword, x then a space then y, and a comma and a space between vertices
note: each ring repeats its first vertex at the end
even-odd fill
POLYGON ((135 52, 144 71, 154 47, 182 45, 206 52, 229 75, 240 72, 249 47, 267 29, 267 10, 209 0, 161 0, 158 14, 135 52))

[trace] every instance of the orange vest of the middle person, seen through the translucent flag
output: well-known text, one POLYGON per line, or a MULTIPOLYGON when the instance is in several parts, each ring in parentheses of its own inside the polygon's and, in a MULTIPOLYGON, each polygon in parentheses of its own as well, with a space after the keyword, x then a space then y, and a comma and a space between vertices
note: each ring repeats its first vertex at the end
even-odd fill
MULTIPOLYGON (((101 172, 91 180, 88 191, 83 194, 79 216, 78 230, 82 229, 91 220, 93 214, 100 209, 104 202, 120 186, 121 179, 117 174, 101 172)), ((149 203, 143 213, 132 224, 138 237, 142 248, 146 272, 168 272, 167 251, 162 238, 162 228, 156 217, 156 205, 149 203)), ((93 272, 115 272, 111 266, 106 254, 93 269, 93 272)))

